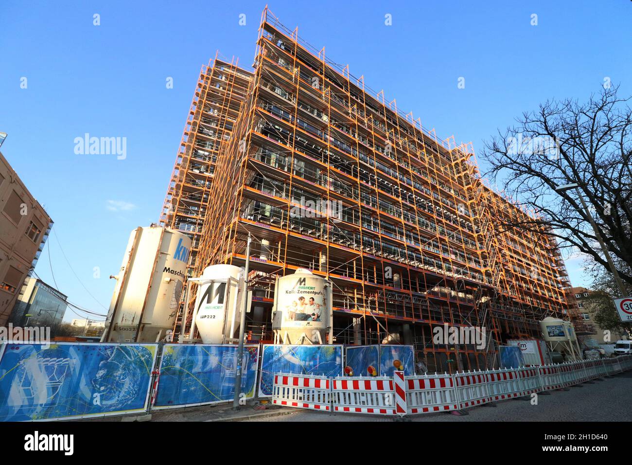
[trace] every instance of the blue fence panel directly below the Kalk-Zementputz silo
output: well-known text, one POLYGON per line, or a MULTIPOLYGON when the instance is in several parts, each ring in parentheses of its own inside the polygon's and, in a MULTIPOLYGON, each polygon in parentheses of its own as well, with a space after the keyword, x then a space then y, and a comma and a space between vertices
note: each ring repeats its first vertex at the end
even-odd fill
POLYGON ((342 345, 273 345, 262 350, 259 397, 272 395, 274 374, 341 376, 342 345))

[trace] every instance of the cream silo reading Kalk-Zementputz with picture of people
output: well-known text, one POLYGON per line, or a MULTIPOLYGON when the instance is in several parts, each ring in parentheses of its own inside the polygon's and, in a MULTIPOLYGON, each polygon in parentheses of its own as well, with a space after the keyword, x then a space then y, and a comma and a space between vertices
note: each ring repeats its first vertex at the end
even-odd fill
POLYGON ((325 278, 298 268, 277 278, 272 329, 276 344, 331 343, 332 287, 325 278))

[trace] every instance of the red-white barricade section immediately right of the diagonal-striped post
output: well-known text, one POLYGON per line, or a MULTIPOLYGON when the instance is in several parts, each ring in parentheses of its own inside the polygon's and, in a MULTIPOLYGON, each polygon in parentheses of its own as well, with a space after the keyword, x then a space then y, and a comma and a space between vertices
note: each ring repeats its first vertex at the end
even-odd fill
POLYGON ((406 409, 409 414, 449 412, 459 409, 454 378, 445 375, 406 376, 406 409))

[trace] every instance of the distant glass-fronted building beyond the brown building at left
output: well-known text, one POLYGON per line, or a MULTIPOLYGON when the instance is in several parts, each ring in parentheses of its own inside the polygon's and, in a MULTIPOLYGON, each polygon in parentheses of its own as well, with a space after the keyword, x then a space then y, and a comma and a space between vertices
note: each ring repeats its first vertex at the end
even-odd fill
POLYGON ((26 278, 9 321, 13 326, 50 326, 54 336, 68 307, 68 297, 38 278, 26 278), (28 316, 30 315, 30 316, 28 316))

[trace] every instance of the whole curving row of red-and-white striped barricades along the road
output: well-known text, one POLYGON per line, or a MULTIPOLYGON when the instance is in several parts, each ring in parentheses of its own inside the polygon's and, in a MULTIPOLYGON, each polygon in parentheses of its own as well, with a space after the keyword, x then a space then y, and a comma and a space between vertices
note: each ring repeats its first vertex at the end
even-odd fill
POLYGON ((272 402, 329 412, 411 415, 463 411, 497 400, 564 389, 632 369, 632 356, 454 375, 274 376, 272 402))

